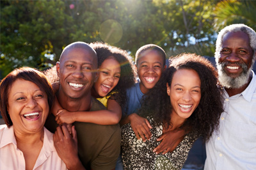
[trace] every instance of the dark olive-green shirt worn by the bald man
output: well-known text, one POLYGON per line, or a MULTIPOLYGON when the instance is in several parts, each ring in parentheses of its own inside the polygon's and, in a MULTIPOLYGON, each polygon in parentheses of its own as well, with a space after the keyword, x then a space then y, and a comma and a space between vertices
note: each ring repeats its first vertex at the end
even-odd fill
MULTIPOLYGON (((90 111, 104 110, 106 107, 93 98, 90 111)), ((52 133, 58 126, 53 114, 49 114, 45 127, 52 133)), ((115 169, 120 154, 119 125, 97 125, 94 123, 74 122, 77 132, 78 155, 86 169, 115 169)))

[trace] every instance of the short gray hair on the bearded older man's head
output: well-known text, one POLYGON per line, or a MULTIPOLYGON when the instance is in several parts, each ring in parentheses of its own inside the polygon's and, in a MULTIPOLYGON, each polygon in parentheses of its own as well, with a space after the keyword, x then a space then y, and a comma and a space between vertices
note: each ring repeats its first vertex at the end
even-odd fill
POLYGON ((252 65, 253 65, 255 61, 255 52, 256 52, 256 33, 251 27, 248 27, 244 24, 232 24, 230 26, 227 26, 221 29, 220 33, 218 34, 218 38, 216 40, 216 50, 215 50, 216 63, 219 62, 223 36, 228 32, 237 32, 237 31, 242 31, 249 36, 250 46, 253 49, 253 59, 252 59, 252 65))

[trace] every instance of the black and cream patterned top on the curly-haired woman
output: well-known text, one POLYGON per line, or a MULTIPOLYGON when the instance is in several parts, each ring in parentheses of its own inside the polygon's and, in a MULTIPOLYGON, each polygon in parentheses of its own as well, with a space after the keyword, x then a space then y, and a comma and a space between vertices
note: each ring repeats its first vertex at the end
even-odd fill
MULTIPOLYGON (((151 125, 153 119, 147 118, 151 125)), ((130 123, 121 127, 122 130, 122 160, 124 169, 182 169, 187 157, 188 152, 193 146, 193 143, 198 138, 195 132, 190 132, 185 135, 184 139, 172 151, 172 153, 156 154, 153 149, 156 148, 160 142, 156 139, 162 135, 163 126, 154 126, 150 131, 152 137, 145 143, 138 140, 134 134, 130 123)))

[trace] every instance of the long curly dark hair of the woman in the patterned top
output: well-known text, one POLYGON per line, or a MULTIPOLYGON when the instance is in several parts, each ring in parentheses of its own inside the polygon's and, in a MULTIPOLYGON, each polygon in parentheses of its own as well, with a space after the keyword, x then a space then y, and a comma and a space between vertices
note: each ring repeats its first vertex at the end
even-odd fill
POLYGON ((208 141, 212 132, 218 128, 223 105, 214 66, 207 59, 196 54, 180 54, 170 59, 169 68, 164 71, 156 86, 143 98, 139 114, 144 117, 152 116, 156 125, 166 123, 172 126, 170 123, 172 105, 167 94, 166 82, 171 86, 174 73, 180 69, 195 70, 201 81, 200 103, 180 128, 196 130, 205 141, 208 141))

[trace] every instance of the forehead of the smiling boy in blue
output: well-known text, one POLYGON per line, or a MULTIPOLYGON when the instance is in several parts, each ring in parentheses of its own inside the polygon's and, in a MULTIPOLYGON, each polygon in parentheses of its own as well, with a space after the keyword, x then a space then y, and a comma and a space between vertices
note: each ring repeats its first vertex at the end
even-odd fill
POLYGON ((147 62, 147 63, 161 63, 163 65, 164 59, 163 57, 157 52, 157 50, 145 50, 140 58, 138 59, 138 64, 147 62))

